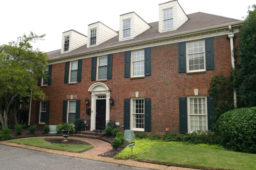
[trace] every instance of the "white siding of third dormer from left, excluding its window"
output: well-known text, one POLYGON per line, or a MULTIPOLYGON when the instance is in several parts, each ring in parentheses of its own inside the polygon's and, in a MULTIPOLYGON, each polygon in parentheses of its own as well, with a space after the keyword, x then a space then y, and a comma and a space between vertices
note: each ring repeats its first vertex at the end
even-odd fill
POLYGON ((126 39, 133 39, 134 37, 140 35, 144 31, 150 28, 150 25, 146 23, 142 18, 140 18, 135 12, 130 12, 128 14, 120 15, 119 22, 119 41, 126 39), (131 20, 131 36, 127 38, 123 38, 123 21, 131 20))

